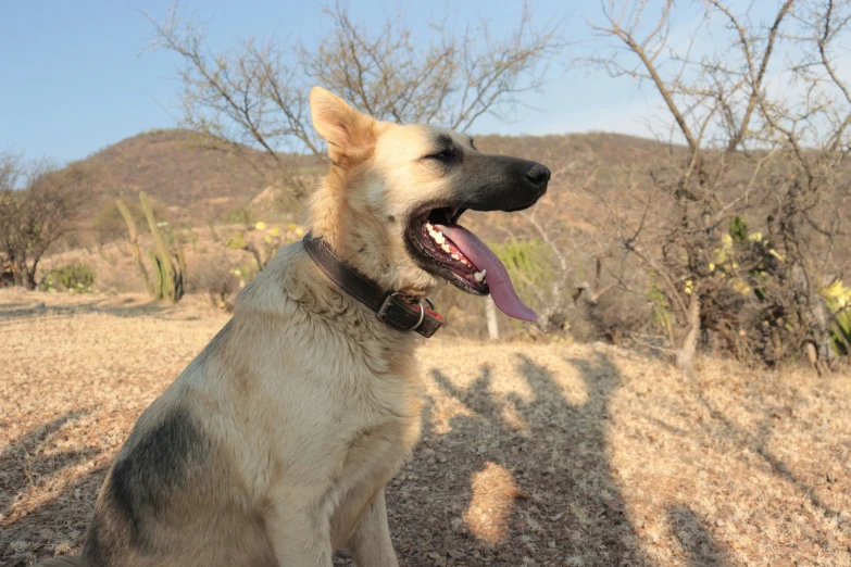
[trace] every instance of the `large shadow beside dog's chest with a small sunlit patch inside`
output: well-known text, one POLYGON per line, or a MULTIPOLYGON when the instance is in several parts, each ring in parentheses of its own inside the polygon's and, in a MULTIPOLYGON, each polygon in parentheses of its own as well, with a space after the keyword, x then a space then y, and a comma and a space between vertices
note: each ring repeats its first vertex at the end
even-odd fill
POLYGON ((400 562, 647 565, 606 446, 618 369, 604 354, 568 361, 588 392, 574 405, 550 370, 522 354, 516 361, 527 401, 497 394, 487 366, 465 389, 431 370, 464 411, 443 434, 426 419, 414 461, 388 487, 400 562))

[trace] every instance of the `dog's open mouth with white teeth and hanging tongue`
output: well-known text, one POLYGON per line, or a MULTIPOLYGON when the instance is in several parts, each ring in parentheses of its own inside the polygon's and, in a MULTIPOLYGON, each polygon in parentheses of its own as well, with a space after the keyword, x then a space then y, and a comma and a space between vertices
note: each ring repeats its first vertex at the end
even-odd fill
POLYGON ((473 232, 458 224, 464 209, 442 207, 414 216, 408 238, 415 256, 428 272, 470 293, 490 293, 510 317, 535 320, 511 282, 505 266, 473 232))

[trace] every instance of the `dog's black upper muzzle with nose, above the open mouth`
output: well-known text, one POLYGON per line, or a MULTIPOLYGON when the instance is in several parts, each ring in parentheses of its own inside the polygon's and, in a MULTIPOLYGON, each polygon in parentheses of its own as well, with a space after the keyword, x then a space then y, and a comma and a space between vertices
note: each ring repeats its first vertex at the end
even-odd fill
POLYGON ((460 200, 473 211, 522 211, 547 192, 550 169, 537 162, 504 155, 464 156, 460 200))

